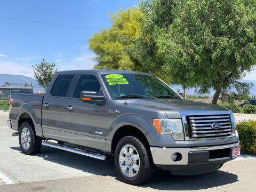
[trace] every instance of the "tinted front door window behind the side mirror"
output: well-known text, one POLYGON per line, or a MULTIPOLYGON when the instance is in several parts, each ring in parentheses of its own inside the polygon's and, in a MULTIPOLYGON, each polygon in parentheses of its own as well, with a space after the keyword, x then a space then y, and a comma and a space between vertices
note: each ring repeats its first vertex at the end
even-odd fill
MULTIPOLYGON (((76 84, 73 98, 80 98, 81 91, 95 91, 99 94, 100 84, 92 75, 81 75, 76 84)), ((102 94, 102 92, 100 92, 102 94)))

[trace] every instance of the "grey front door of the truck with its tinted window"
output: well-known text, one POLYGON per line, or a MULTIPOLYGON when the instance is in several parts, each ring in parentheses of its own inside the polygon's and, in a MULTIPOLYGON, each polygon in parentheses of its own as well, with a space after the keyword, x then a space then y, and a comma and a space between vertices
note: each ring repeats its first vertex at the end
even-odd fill
MULTIPOLYGON (((105 105, 81 102, 81 91, 95 91, 103 95, 99 79, 94 74, 82 74, 78 77, 73 94, 66 106, 67 142, 85 147, 106 150, 106 115, 105 105)), ((106 97, 105 97, 106 98, 106 97)))

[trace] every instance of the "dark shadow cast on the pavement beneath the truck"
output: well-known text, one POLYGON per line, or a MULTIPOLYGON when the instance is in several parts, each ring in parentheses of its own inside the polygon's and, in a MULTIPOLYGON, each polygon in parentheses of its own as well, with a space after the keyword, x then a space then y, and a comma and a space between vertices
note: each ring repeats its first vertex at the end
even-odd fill
MULTIPOLYGON (((19 147, 11 147, 11 149, 20 151, 19 147)), ((109 175, 111 177, 115 177, 116 180, 121 181, 119 178, 117 178, 117 174, 115 172, 114 158, 101 161, 99 159, 94 159, 47 146, 42 146, 40 153, 34 156, 42 157, 46 161, 73 167, 74 169, 87 173, 105 176, 109 175)), ((166 170, 157 170, 153 179, 138 187, 149 187, 159 190, 199 190, 219 187, 229 183, 234 183, 236 181, 236 174, 224 171, 217 171, 201 175, 180 176, 172 175, 166 170)))

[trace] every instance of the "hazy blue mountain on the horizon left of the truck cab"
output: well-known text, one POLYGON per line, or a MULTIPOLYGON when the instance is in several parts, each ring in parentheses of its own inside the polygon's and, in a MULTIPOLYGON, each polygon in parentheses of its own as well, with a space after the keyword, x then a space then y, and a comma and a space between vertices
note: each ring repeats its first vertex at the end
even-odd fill
POLYGON ((10 85, 25 85, 27 82, 28 85, 32 83, 34 91, 44 91, 42 87, 39 87, 36 79, 27 77, 24 75, 9 75, 9 74, 0 74, 0 85, 4 85, 5 82, 8 82, 10 85))

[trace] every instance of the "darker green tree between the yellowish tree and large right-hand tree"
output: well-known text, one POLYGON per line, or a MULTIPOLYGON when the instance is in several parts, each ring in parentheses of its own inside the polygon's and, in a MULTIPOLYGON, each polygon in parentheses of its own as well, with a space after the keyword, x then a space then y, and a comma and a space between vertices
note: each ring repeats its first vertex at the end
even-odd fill
POLYGON ((178 6, 174 1, 146 0, 139 1, 141 12, 141 33, 129 47, 128 53, 138 70, 152 73, 171 82, 171 76, 163 71, 163 57, 158 54, 157 39, 162 31, 167 31, 172 24, 172 10, 178 6))

